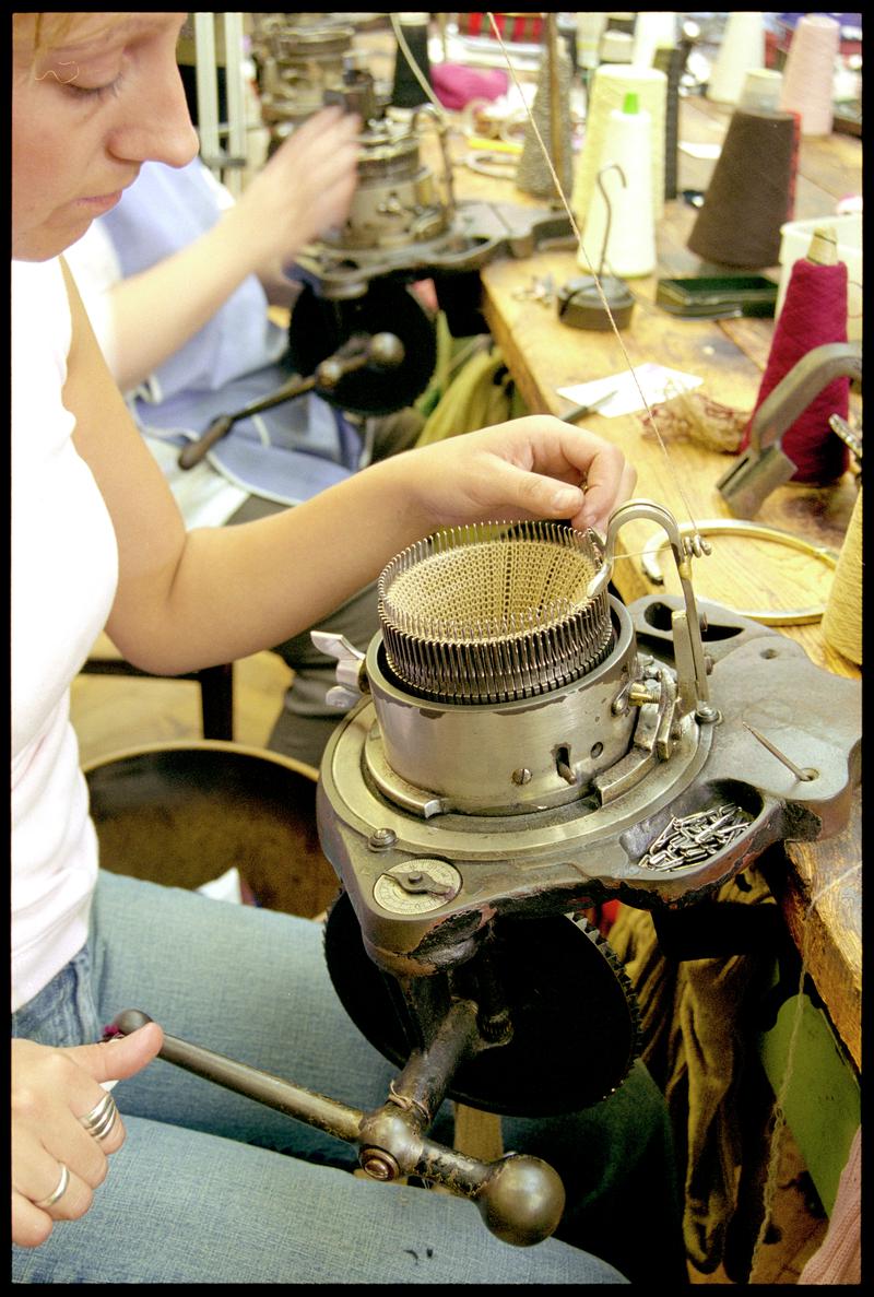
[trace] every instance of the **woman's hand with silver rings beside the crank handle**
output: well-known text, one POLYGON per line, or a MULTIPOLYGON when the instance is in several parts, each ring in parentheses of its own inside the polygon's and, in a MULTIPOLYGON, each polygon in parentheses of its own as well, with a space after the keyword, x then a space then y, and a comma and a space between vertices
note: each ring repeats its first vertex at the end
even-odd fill
POLYGON ((106 1176, 106 1158, 124 1143, 117 1117, 104 1139, 89 1135, 82 1117, 106 1096, 100 1082, 132 1077, 154 1058, 163 1034, 157 1023, 106 1044, 54 1049, 32 1040, 12 1041, 12 1237, 36 1248, 56 1220, 83 1217, 106 1176), (57 1202, 39 1208, 69 1183, 57 1202))

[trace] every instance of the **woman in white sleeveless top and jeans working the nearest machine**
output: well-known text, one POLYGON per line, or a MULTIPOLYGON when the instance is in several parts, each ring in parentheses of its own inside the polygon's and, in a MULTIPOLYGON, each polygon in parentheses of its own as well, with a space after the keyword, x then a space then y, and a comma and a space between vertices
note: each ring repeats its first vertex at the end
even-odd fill
MULTIPOLYGON (((622 1281, 558 1240, 498 1243, 458 1198, 345 1174, 349 1145, 153 1061, 163 1026, 362 1108, 390 1075, 336 1003, 316 925, 99 873, 67 719, 96 633, 152 672, 228 661, 324 617, 440 524, 603 525, 634 481, 616 449, 530 418, 399 454, 261 521, 185 532, 57 259, 143 162, 195 156, 184 17, 13 19, 13 1278, 622 1281), (128 1005, 162 1026, 96 1043, 128 1005)), ((338 119, 301 176, 318 227, 348 210, 354 135, 338 119)), ((582 1167, 569 1222, 591 1189, 581 1141, 611 1144, 611 1112, 628 1156, 646 1170, 651 1147, 664 1175, 661 1118, 635 1121, 647 1104, 660 1113, 633 1074, 568 1119, 582 1167)))

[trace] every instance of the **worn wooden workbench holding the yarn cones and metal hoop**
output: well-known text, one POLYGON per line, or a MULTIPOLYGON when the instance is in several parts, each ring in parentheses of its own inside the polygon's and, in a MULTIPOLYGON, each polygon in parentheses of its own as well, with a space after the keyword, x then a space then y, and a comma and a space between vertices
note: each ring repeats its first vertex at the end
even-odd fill
MULTIPOLYGON (((681 109, 679 139, 705 143, 721 140, 730 110, 704 100, 686 100, 681 109)), ((466 144, 451 140, 456 196, 530 205, 511 179, 485 179, 463 165, 466 144)), ((678 188, 705 189, 713 162, 679 153, 678 188)), ((861 141, 849 136, 803 140, 796 187, 796 219, 834 214, 835 202, 861 193, 861 141)), ((543 205, 542 200, 538 205, 543 205)), ((686 248, 695 210, 682 200, 665 205, 656 230, 659 275, 720 272, 703 266, 686 248)), ((725 272, 725 271, 722 271, 725 272)), ((762 271, 772 279, 779 267, 762 271)), ((724 322, 677 319, 655 306, 656 276, 634 279, 637 300, 622 344, 609 333, 582 332, 560 323, 556 306, 521 296, 534 276, 552 276, 558 287, 582 274, 576 254, 546 250, 525 261, 502 259, 482 272, 484 314, 501 346, 519 392, 532 411, 564 415, 572 402, 558 394, 593 379, 624 372, 629 363, 656 361, 670 368, 700 376, 703 393, 734 410, 752 410, 764 371, 773 320, 724 322)), ((858 406, 858 397, 853 398, 858 406)), ((730 514, 716 489, 718 477, 733 463, 690 442, 672 440, 660 445, 638 415, 591 416, 586 427, 621 445, 638 472, 637 495, 652 498, 679 521, 727 519, 730 514)), ((757 521, 783 528, 834 551, 840 549, 857 493, 852 473, 830 488, 788 484, 764 502, 757 521)), ((677 593, 679 586, 664 562, 665 584, 654 586, 641 568, 639 549, 656 530, 635 523, 621 533, 626 555, 616 564, 615 584, 626 602, 656 589, 677 593), (639 543, 638 543, 639 542, 639 543)), ((696 595, 739 611, 787 610, 822 604, 831 572, 816 559, 744 538, 716 538, 713 554, 695 562, 696 595)), ((857 677, 857 668, 823 642, 820 623, 781 628, 803 645, 817 664, 842 676, 857 677)), ((804 955, 810 975, 827 1005, 833 1023, 849 1054, 861 1066, 861 831, 858 804, 848 827, 839 837, 814 844, 787 844, 787 869, 773 887, 790 930, 804 955), (818 898, 810 908, 813 898, 818 898), (807 939, 804 940, 804 933, 807 939)))

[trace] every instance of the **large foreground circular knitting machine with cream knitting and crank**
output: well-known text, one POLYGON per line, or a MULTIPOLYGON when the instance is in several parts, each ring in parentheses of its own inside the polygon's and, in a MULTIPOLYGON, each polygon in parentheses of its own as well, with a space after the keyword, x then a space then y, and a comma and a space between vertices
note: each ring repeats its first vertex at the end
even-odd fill
MULTIPOLYGON (((469 1197, 510 1243, 551 1233, 555 1171, 440 1145, 428 1131, 443 1099, 547 1115, 621 1086, 637 1008, 584 912, 620 899, 656 930, 695 923, 769 844, 836 831, 858 777, 858 686, 757 623, 716 604, 703 616, 691 560, 705 551, 633 501, 606 537, 482 524, 397 555, 367 654, 316 643, 350 708, 318 787, 341 885, 325 957, 399 1074, 360 1112, 172 1038, 163 1056, 357 1144, 376 1179, 469 1197), (665 532, 682 595, 625 607, 611 593, 634 519, 665 532)), ((117 1021, 130 1031, 143 1016, 117 1021)))

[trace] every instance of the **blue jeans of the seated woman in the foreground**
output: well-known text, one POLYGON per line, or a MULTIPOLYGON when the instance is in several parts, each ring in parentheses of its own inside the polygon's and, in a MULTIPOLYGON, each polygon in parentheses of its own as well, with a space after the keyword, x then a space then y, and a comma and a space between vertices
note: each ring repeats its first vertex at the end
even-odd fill
MULTIPOLYGON (((13 1035, 82 1044, 126 1008, 363 1109, 385 1100, 396 1074, 341 1008, 316 923, 101 872, 87 947, 13 1016, 13 1035)), ((351 1145, 162 1060, 114 1095, 127 1140, 93 1206, 41 1246, 13 1248, 14 1281, 628 1281, 558 1239, 508 1246, 462 1198, 353 1176, 351 1145)), ((534 1150, 539 1124, 507 1122, 506 1147, 534 1150)), ((599 1201, 613 1218, 630 1188, 615 1226, 634 1237, 633 1220, 670 1188, 646 1165, 655 1157, 670 1180, 663 1104, 646 1071, 545 1130, 571 1158, 568 1231, 574 1213, 585 1228, 587 1201, 594 1219, 599 1201), (642 1180, 628 1185, 635 1170, 642 1180)), ((654 1258, 643 1259, 652 1274, 654 1258)))

